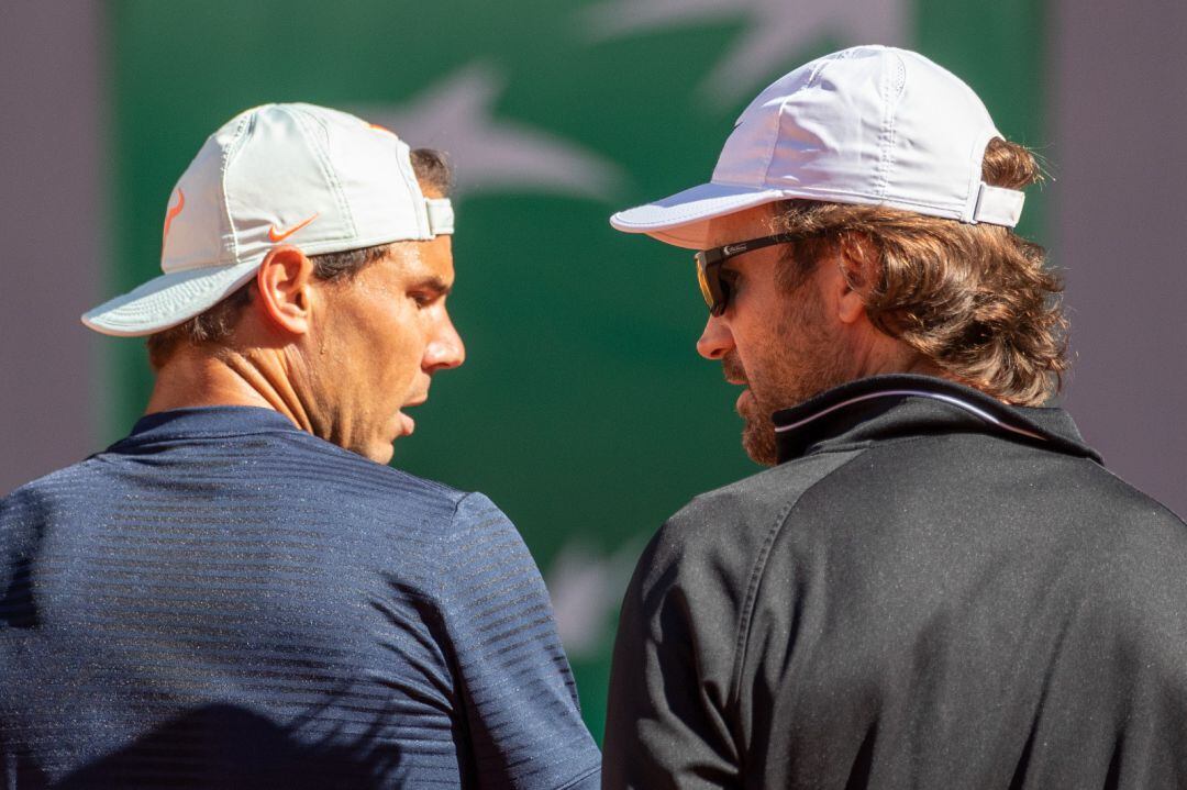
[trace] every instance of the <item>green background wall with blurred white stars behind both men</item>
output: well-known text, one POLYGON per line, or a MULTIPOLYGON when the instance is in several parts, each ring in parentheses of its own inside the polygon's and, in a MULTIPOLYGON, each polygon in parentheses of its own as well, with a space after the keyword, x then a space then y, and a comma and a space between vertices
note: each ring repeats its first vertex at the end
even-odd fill
MULTIPOLYGON (((414 146, 456 144, 451 310, 469 359, 434 381, 393 463, 481 490, 519 525, 598 738, 614 617, 643 542, 698 491, 755 470, 738 446, 734 388, 693 348, 705 310, 691 256, 616 234, 608 215, 707 179, 763 85, 856 43, 919 49, 966 78, 1007 136, 1040 151, 1048 142, 1040 0, 837 0, 824 19, 798 1, 723 0, 706 14, 691 8, 712 4, 680 5, 108 6, 114 265, 104 297, 158 270, 173 183, 204 138, 246 107, 363 108, 373 120, 412 119, 393 129, 414 146), (616 34, 607 20, 628 19, 628 7, 677 13, 616 34), (899 25, 878 36, 862 21, 868 8, 899 25), (747 59, 763 34, 787 45, 747 59), (754 76, 722 81, 721 64, 740 52, 754 76), (464 122, 450 128, 447 119, 464 122), (533 145, 546 167, 500 166, 533 145)), ((1030 195, 1022 231, 1036 234, 1043 216, 1042 193, 1030 195)), ((138 342, 106 348, 118 384, 103 438, 115 439, 151 378, 138 342)))

